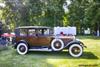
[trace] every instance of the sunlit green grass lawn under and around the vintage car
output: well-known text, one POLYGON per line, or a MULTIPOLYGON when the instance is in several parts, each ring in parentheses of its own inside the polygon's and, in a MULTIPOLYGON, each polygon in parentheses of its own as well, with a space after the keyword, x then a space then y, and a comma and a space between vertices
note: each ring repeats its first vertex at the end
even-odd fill
POLYGON ((78 36, 87 46, 79 58, 68 52, 29 52, 18 55, 11 46, 0 50, 0 67, 100 67, 100 38, 78 36))

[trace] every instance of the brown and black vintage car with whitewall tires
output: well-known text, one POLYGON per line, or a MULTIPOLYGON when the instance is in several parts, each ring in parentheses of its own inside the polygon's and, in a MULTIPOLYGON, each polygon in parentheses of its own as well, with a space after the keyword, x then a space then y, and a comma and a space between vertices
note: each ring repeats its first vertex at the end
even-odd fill
POLYGON ((28 51, 63 51, 68 49, 73 57, 83 53, 84 44, 74 36, 53 35, 45 26, 22 26, 15 29, 14 48, 21 55, 28 51))

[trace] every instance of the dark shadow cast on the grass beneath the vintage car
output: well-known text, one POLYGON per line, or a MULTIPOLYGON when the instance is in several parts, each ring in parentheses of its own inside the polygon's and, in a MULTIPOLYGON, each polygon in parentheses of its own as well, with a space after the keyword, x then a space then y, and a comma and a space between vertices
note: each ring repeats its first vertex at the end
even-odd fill
POLYGON ((33 51, 29 52, 27 55, 35 55, 42 58, 49 58, 49 59, 99 59, 91 52, 84 52, 81 57, 74 58, 69 55, 68 52, 41 52, 41 51, 33 51))

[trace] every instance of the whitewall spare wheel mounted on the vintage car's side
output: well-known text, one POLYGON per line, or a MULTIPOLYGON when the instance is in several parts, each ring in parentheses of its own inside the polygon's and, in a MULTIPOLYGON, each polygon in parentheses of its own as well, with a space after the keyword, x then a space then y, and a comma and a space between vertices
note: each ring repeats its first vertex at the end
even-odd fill
POLYGON ((64 48, 64 43, 61 39, 54 39, 51 42, 51 48, 53 51, 60 51, 64 48))

